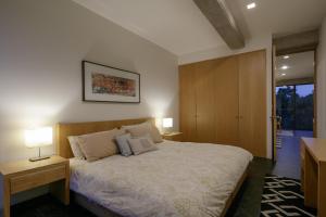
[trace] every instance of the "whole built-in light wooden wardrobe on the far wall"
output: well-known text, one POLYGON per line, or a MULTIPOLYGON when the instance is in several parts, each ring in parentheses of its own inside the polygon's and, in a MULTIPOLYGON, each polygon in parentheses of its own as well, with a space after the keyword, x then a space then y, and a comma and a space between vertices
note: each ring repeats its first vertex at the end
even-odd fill
POLYGON ((266 156, 266 51, 179 66, 185 141, 233 144, 266 156))

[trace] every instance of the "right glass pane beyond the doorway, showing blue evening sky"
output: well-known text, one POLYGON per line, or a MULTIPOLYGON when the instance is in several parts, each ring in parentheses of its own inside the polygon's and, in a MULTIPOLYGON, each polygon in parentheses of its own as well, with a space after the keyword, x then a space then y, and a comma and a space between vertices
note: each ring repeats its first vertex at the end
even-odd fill
POLYGON ((313 130, 314 86, 298 85, 296 93, 296 129, 313 130))

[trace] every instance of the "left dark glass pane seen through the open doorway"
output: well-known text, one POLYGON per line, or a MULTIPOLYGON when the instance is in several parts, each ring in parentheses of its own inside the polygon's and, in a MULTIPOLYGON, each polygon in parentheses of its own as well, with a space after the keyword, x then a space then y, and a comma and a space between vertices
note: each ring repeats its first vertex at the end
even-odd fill
POLYGON ((294 128, 294 86, 276 88, 276 114, 281 117, 281 129, 294 128))

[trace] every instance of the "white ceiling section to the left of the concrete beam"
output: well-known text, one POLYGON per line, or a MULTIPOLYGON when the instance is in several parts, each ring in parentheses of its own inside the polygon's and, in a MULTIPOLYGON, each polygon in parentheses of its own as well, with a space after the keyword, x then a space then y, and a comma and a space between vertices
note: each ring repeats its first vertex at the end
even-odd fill
POLYGON ((192 0, 74 0, 176 55, 225 44, 192 0))

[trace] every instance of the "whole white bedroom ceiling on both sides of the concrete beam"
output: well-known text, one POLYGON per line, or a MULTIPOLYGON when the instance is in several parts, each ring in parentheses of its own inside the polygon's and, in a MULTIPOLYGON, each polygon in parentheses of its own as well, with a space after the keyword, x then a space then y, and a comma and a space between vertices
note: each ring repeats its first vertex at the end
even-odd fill
MULTIPOLYGON (((73 0, 176 55, 225 44, 192 0, 73 0)), ((326 0, 224 0, 246 39, 318 27, 326 0), (255 1, 251 11, 247 3, 255 1)))

